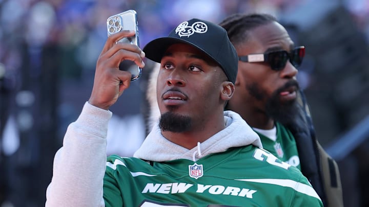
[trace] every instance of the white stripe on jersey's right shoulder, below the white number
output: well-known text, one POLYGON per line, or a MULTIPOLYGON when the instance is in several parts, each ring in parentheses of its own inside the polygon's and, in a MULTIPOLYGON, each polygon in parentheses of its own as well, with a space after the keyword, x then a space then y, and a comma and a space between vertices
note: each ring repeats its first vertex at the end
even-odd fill
POLYGON ((289 179, 236 179, 236 180, 268 183, 268 184, 273 184, 273 185, 278 185, 278 186, 283 186, 283 187, 289 187, 289 188, 294 189, 297 192, 318 198, 320 200, 320 197, 318 196, 318 194, 315 192, 315 190, 311 186, 306 185, 301 182, 296 182, 294 180, 289 180, 289 179))

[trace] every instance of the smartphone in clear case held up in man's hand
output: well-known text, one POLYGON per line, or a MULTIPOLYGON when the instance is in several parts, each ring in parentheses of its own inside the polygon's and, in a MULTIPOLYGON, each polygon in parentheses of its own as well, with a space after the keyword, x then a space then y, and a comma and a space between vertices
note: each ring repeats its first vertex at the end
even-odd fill
MULTIPOLYGON (((108 36, 120 32, 122 30, 134 30, 136 35, 132 37, 125 37, 119 42, 126 42, 135 44, 139 47, 138 41, 138 22, 137 13, 135 10, 128 10, 119 14, 110 16, 107 20, 108 36)), ((142 69, 138 67, 133 61, 124 60, 119 64, 119 70, 128 71, 132 74, 131 81, 139 79, 142 69)))

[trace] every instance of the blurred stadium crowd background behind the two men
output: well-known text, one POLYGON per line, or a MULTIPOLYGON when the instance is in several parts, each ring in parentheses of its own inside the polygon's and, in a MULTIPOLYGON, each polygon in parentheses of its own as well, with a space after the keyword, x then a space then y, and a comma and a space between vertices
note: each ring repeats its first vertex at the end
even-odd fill
MULTIPOLYGON (((106 20, 128 9, 140 48, 193 17, 276 16, 306 47, 298 79, 339 164, 345 206, 369 206, 368 0, 0 0, 0 207, 45 205, 53 156, 91 93, 106 20)), ((130 156, 144 140, 152 66, 111 108, 108 154, 130 156)))

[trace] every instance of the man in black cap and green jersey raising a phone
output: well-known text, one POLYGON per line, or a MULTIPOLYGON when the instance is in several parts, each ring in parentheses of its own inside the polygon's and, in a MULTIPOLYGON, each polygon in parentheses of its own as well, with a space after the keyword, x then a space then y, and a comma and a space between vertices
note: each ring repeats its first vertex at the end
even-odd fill
POLYGON ((237 113, 223 111, 238 64, 226 30, 190 19, 145 53, 116 43, 132 35, 109 36, 91 97, 55 155, 46 206, 322 206, 297 168, 263 150, 237 113), (119 63, 144 67, 145 54, 161 64, 160 120, 134 157, 106 158, 108 109, 131 79, 119 63))

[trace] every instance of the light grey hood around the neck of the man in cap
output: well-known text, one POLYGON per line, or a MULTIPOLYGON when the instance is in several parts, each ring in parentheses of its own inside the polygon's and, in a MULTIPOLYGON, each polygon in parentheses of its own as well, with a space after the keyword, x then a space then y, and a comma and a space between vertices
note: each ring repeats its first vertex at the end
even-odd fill
POLYGON ((197 147, 190 150, 167 140, 161 134, 158 123, 156 123, 144 143, 133 156, 153 162, 164 162, 181 158, 196 161, 202 156, 224 152, 231 147, 255 145, 262 148, 259 136, 238 113, 224 111, 224 123, 226 128, 203 143, 198 143, 197 147))

